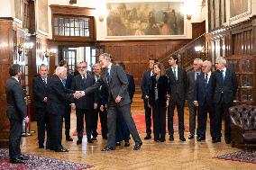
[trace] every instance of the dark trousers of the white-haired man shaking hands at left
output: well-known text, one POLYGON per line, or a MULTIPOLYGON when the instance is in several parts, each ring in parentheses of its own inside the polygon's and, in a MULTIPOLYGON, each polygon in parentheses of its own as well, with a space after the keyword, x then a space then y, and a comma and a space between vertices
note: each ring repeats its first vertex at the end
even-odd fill
POLYGON ((61 114, 50 114, 50 148, 59 150, 62 147, 63 119, 61 114))

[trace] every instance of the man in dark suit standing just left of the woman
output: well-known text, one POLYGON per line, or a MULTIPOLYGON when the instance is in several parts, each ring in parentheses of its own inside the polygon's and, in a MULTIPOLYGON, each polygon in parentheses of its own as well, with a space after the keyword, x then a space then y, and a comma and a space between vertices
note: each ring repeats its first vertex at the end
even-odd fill
POLYGON ((144 139, 151 139, 151 115, 152 111, 149 107, 149 96, 150 96, 150 82, 151 76, 153 76, 154 64, 157 62, 156 59, 150 58, 149 69, 143 73, 142 76, 142 99, 144 101, 144 110, 145 110, 145 121, 146 121, 146 137, 144 139))

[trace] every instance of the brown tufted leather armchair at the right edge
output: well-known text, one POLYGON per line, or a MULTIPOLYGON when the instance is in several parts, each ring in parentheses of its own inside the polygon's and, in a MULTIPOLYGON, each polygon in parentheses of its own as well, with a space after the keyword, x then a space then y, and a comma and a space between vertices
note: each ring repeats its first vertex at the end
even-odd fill
POLYGON ((235 144, 256 144, 256 106, 236 105, 229 108, 231 141, 235 144))

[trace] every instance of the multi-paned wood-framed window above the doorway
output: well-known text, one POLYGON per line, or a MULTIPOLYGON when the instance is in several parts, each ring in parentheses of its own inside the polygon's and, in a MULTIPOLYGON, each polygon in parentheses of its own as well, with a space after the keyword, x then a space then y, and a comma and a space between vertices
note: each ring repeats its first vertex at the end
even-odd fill
POLYGON ((90 37, 91 17, 54 16, 54 35, 72 37, 90 37))

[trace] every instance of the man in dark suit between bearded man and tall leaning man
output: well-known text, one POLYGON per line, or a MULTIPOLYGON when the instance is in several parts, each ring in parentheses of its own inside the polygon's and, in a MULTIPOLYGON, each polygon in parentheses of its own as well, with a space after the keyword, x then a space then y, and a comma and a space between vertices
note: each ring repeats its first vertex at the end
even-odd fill
MULTIPOLYGON (((102 73, 102 68, 99 63, 96 63, 93 66, 93 73, 95 76, 95 80, 97 81, 102 73)), ((93 122, 92 122, 92 136, 93 140, 96 140, 97 137, 97 121, 98 116, 101 124, 101 135, 103 139, 107 139, 107 114, 106 114, 106 103, 107 103, 107 87, 105 85, 100 86, 96 90, 96 99, 97 99, 97 108, 95 109, 95 113, 93 114, 93 122)))

